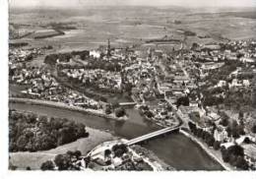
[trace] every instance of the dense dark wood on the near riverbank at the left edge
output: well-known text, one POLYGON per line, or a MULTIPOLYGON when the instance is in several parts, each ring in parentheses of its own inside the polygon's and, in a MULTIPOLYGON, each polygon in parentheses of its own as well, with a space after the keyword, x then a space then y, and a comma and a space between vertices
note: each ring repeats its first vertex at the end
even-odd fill
POLYGON ((66 118, 9 111, 10 151, 54 149, 88 136, 86 126, 82 123, 66 118))

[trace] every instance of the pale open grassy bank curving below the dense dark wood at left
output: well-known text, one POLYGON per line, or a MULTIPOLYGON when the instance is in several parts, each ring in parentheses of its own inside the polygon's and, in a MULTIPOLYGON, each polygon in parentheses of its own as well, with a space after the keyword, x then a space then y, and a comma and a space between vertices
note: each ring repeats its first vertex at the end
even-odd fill
POLYGON ((87 131, 90 134, 89 138, 79 139, 73 143, 63 145, 55 149, 36 152, 10 152, 10 162, 17 166, 17 169, 19 170, 26 169, 28 166, 30 166, 32 170, 39 170, 41 163, 46 160, 54 159, 55 155, 57 154, 66 153, 68 150, 80 150, 82 155, 86 155, 88 151, 94 149, 97 145, 116 139, 116 137, 105 131, 100 131, 89 127, 87 127, 87 131))

